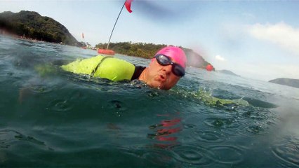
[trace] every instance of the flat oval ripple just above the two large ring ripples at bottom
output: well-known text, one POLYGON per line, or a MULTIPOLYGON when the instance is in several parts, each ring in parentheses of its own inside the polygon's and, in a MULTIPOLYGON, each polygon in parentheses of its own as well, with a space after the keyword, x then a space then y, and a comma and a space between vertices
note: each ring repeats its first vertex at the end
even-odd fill
POLYGON ((220 134, 216 131, 194 130, 192 136, 198 141, 204 141, 208 143, 220 143, 222 141, 225 141, 225 134, 220 134))

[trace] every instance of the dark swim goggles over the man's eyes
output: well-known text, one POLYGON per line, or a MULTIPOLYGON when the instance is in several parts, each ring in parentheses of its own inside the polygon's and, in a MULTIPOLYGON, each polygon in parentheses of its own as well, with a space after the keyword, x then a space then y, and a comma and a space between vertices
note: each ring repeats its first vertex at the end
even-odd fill
POLYGON ((173 72, 173 74, 175 74, 175 76, 185 75, 185 69, 182 66, 180 66, 180 64, 172 62, 170 57, 166 55, 156 55, 154 57, 157 59, 157 62, 162 66, 171 64, 172 65, 171 71, 173 72))

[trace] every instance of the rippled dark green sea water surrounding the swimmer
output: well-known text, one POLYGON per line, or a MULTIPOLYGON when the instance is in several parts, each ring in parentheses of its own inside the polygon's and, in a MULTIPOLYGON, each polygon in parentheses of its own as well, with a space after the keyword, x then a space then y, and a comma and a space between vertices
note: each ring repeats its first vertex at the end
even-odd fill
POLYGON ((189 67, 165 91, 58 66, 94 55, 0 36, 0 167, 299 167, 298 88, 189 67))

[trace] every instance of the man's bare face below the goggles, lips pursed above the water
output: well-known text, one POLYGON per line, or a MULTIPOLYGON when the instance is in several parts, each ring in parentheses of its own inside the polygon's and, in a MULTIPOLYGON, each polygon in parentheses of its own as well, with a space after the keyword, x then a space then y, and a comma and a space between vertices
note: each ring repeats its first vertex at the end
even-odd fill
POLYGON ((152 59, 152 62, 148 66, 146 74, 146 83, 150 87, 156 87, 161 90, 169 90, 173 87, 178 80, 179 76, 175 76, 171 71, 172 65, 162 66, 157 62, 157 59, 152 59))

